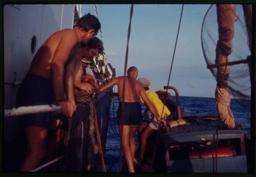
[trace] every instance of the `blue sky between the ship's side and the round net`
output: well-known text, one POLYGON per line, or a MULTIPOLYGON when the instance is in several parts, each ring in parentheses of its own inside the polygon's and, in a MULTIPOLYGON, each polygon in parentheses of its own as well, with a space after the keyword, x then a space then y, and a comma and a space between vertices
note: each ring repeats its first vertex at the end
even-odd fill
MULTIPOLYGON (((82 12, 92 14, 93 5, 82 12)), ((210 5, 184 5, 170 85, 180 96, 214 97, 216 80, 206 68, 201 46, 201 26, 210 5)), ((131 5, 97 5, 106 58, 124 71, 127 29, 131 5)), ((157 91, 167 85, 182 5, 134 5, 128 68, 151 81, 157 91)), ((173 93, 173 92, 171 92, 173 93)))

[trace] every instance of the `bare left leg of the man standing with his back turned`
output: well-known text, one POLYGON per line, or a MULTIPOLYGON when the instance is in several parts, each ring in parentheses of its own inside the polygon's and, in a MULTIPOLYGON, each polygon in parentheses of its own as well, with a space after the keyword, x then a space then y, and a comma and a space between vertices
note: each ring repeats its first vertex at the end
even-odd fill
POLYGON ((119 125, 119 135, 124 157, 129 169, 129 172, 135 172, 133 167, 132 152, 130 148, 130 125, 119 125))

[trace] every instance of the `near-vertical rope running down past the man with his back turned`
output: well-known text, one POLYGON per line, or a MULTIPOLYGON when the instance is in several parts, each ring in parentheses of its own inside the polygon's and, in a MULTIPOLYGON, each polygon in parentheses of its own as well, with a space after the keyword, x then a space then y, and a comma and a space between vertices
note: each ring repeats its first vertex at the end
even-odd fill
MULTIPOLYGON (((126 52, 125 52, 125 62, 124 62, 124 79, 123 79, 123 93, 122 98, 124 101, 124 91, 125 91, 125 76, 126 76, 126 70, 127 70, 127 62, 128 62, 128 53, 129 53, 129 40, 131 35, 131 23, 133 18, 133 4, 131 5, 131 11, 130 11, 130 22, 129 22, 129 28, 128 28, 128 34, 127 34, 127 46, 126 46, 126 52)), ((121 119, 123 119, 124 116, 124 104, 122 104, 122 115, 121 119)), ((120 132, 120 149, 119 149, 119 172, 122 170, 122 135, 123 135, 123 128, 121 126, 121 132, 120 132)))

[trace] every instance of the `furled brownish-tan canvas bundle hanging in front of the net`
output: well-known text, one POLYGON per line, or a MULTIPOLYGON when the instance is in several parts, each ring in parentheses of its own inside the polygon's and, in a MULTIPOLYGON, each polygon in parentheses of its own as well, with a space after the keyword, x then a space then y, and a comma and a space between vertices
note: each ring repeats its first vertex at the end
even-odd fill
MULTIPOLYGON (((232 4, 218 4, 216 6, 219 40, 216 47, 215 63, 225 63, 229 62, 229 55, 232 53, 236 6, 232 4)), ((221 121, 229 128, 233 128, 234 117, 229 107, 230 93, 227 87, 229 73, 230 65, 217 68, 217 87, 215 97, 217 111, 221 121)))

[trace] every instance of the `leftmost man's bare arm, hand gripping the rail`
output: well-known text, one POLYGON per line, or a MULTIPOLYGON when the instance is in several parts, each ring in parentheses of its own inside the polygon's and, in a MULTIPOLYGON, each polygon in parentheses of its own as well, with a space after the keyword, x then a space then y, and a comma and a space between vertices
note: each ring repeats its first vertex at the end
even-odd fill
POLYGON ((63 84, 64 65, 76 44, 77 36, 73 31, 63 33, 51 62, 51 77, 55 100, 60 104, 62 113, 68 117, 73 116, 74 106, 70 105, 71 103, 65 99, 63 84))

